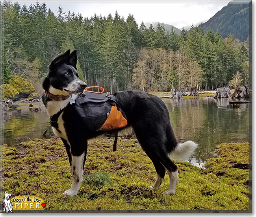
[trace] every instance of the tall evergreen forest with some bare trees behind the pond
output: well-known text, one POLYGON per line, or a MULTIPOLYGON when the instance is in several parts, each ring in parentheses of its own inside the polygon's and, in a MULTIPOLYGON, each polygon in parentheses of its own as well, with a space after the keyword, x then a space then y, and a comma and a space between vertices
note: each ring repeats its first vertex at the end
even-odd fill
POLYGON ((46 4, 4 2, 3 83, 11 75, 30 80, 41 93, 48 65, 66 50, 77 50, 78 74, 88 86, 106 92, 139 89, 147 92, 191 87, 216 89, 230 85, 239 72, 249 82, 249 46, 231 34, 207 33, 201 27, 166 31, 164 24, 137 24, 129 14, 82 17, 63 11, 56 15, 46 4))

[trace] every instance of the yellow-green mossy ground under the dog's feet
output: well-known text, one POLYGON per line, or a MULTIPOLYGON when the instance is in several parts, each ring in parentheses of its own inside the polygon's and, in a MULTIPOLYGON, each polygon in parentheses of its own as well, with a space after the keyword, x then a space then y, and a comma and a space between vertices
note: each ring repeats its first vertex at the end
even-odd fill
MULTIPOLYGON (((177 163, 176 194, 162 195, 169 177, 158 191, 148 189, 156 179, 154 166, 137 140, 119 138, 91 140, 84 168, 84 181, 75 197, 63 196, 71 186, 65 148, 58 138, 4 146, 4 190, 13 197, 35 195, 48 210, 248 210, 249 172, 232 168, 248 163, 248 143, 221 144, 218 158, 207 169, 188 162, 177 163), (219 171, 224 171, 220 175, 219 171), (95 182, 96 180, 96 182, 95 182)), ((3 196, 3 195, 1 195, 3 196)))

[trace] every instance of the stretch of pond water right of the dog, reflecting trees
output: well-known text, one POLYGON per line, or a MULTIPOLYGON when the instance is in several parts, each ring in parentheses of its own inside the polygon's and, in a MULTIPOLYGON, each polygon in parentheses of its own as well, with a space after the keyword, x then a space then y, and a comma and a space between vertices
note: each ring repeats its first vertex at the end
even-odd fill
POLYGON ((198 143, 192 163, 202 164, 220 143, 249 140, 248 104, 227 108, 229 99, 211 97, 180 99, 178 104, 173 99, 164 101, 179 142, 198 143))

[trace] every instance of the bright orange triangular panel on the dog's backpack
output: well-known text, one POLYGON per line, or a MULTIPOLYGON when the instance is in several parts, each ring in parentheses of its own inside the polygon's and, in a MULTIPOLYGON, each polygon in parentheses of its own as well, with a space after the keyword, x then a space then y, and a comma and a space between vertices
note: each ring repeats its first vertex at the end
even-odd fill
POLYGON ((122 116, 122 112, 117 110, 117 107, 112 106, 108 119, 104 123, 102 127, 100 127, 99 131, 102 130, 113 130, 121 127, 125 127, 127 125, 127 120, 122 116))

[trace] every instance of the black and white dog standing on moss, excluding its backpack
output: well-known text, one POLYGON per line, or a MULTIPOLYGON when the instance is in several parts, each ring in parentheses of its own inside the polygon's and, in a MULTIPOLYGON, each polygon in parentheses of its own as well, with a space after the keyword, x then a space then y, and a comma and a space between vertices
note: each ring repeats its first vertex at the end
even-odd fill
MULTIPOLYGON (((58 129, 54 128, 54 133, 63 141, 69 156, 72 186, 63 193, 69 196, 77 195, 82 182, 87 140, 104 134, 102 131, 95 134, 85 133, 79 140, 79 145, 74 142, 70 100, 76 99, 76 94, 83 93, 87 86, 78 78, 76 62, 76 50, 72 53, 68 50, 56 57, 50 63, 49 72, 43 81, 45 94, 42 96, 48 114, 54 116, 58 113, 55 120, 58 129)), ((193 154, 197 144, 192 141, 178 143, 171 127, 169 112, 160 98, 139 90, 116 92, 114 95, 126 114, 127 127, 133 127, 137 140, 156 168, 156 181, 151 188, 160 187, 167 170, 170 186, 164 193, 173 195, 178 181, 178 169, 170 158, 187 159, 193 154)), ((79 127, 83 128, 82 125, 79 127)))

